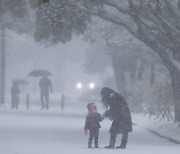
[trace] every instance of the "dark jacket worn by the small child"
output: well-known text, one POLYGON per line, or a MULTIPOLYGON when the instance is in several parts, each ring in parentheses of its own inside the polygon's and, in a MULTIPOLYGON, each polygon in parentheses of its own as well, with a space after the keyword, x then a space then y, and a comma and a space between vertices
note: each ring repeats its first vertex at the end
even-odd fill
POLYGON ((101 128, 100 122, 102 121, 102 117, 97 112, 89 112, 86 116, 84 129, 96 129, 101 128))

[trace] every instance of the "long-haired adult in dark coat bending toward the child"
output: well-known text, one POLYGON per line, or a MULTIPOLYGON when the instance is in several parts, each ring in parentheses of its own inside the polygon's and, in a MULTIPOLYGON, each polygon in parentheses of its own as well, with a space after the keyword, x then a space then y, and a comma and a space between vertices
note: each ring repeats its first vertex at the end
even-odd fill
POLYGON ((128 132, 132 132, 132 121, 129 107, 124 98, 114 90, 104 87, 101 90, 102 102, 108 110, 104 117, 112 120, 110 128, 110 143, 105 148, 114 148, 117 134, 122 134, 121 145, 116 148, 126 148, 128 132))

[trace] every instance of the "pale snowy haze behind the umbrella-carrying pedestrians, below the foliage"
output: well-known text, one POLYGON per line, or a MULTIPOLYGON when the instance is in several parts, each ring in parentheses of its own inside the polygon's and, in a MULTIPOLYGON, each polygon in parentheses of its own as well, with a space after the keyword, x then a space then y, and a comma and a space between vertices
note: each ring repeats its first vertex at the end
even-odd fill
POLYGON ((72 41, 66 44, 44 46, 36 43, 31 36, 19 35, 8 30, 6 41, 6 97, 10 96, 11 81, 16 78, 29 82, 28 86, 20 86, 22 94, 28 92, 39 96, 40 77, 28 77, 29 72, 35 69, 46 69, 53 74, 50 79, 54 95, 78 97, 78 82, 83 84, 83 91, 89 90, 90 82, 94 82, 96 87, 102 86, 99 75, 90 75, 84 71, 85 55, 91 50, 92 45, 83 41, 81 37, 74 36, 72 41))

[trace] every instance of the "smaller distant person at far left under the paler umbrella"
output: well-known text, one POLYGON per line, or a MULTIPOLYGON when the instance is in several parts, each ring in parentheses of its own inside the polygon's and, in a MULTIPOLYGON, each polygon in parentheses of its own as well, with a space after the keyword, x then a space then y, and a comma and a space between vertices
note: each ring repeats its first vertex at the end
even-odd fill
POLYGON ((14 82, 11 88, 11 109, 18 109, 20 90, 18 83, 14 82))

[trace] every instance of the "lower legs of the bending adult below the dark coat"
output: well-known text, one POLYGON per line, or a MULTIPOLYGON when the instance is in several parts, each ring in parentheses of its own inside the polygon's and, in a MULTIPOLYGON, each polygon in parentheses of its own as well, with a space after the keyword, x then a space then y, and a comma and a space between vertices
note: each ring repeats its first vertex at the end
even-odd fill
MULTIPOLYGON (((112 146, 112 147, 115 146, 116 138, 117 138, 117 133, 111 133, 110 143, 109 143, 110 146, 112 146)), ((128 132, 124 132, 122 134, 121 144, 125 144, 126 145, 127 139, 128 139, 128 132)))

